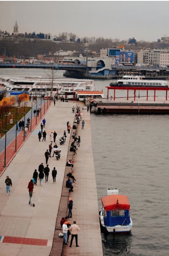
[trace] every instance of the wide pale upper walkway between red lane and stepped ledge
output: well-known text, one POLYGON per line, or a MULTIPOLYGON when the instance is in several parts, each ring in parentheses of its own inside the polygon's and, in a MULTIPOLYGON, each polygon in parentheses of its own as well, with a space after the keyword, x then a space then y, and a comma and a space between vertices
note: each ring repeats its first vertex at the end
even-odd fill
MULTIPOLYGON (((45 115, 46 142, 39 142, 37 133, 40 127, 38 127, 25 141, 18 154, 16 154, 0 177, 0 236, 2 236, 0 240, 0 255, 26 256, 30 254, 49 255, 50 253, 62 191, 68 142, 60 146, 62 152, 59 161, 56 158, 49 159, 49 182, 44 183, 42 187, 39 186, 38 182, 38 185, 34 187, 32 202, 35 203, 35 207, 31 207, 28 204, 29 194, 27 187, 33 176, 34 169, 38 169, 41 162, 45 165, 44 152, 49 148, 50 132, 54 130, 57 132, 56 141, 59 144, 59 136, 62 136, 63 131, 66 130, 67 121, 70 121, 71 126, 73 125, 74 114, 72 114, 72 106, 73 103, 57 102, 54 107, 52 103, 45 115), (56 184, 52 182, 51 175, 54 166, 58 172, 56 184), (5 178, 7 175, 10 176, 13 183, 10 196, 6 196, 5 192, 5 178), (17 241, 17 244, 3 243, 3 236, 7 241, 21 238, 21 244, 18 243, 19 241, 17 241), (32 244, 22 244, 22 238, 31 238, 32 244), (39 245, 41 242, 46 244, 46 240, 47 246, 39 245), (39 246, 33 245, 35 242, 39 246)), ((69 141, 69 138, 70 135, 67 134, 67 141, 69 141)), ((25 241, 25 243, 30 244, 30 240, 25 241)))

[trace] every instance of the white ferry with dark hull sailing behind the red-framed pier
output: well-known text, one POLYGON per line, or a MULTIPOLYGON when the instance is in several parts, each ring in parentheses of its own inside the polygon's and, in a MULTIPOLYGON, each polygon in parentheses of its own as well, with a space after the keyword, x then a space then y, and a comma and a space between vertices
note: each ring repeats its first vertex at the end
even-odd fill
POLYGON ((124 75, 111 87, 168 87, 167 80, 146 80, 145 76, 124 75))

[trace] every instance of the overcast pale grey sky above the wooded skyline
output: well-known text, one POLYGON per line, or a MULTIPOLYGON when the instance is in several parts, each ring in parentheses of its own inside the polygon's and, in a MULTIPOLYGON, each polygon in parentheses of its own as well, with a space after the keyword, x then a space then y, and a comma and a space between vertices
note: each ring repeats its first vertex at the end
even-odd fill
POLYGON ((169 2, 1 1, 0 30, 12 33, 15 21, 19 33, 157 41, 169 36, 169 2))

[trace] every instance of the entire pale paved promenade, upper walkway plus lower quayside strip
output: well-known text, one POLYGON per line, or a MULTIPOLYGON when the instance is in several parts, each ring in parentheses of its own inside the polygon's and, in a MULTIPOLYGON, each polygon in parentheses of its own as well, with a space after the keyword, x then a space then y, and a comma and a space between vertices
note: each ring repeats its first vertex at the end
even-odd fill
MULTIPOLYGON (((50 254, 54 232, 58 236, 60 231, 55 231, 55 224, 62 194, 63 179, 65 177, 65 164, 71 133, 67 133, 67 141, 61 148, 61 159, 57 161, 49 158, 49 182, 34 187, 32 202, 35 207, 28 204, 28 182, 32 178, 34 169, 38 169, 41 162, 45 164, 44 152, 49 148, 49 133, 57 132, 57 144, 59 136, 67 130, 66 123, 70 121, 73 126, 75 115, 72 113, 73 103, 53 103, 45 115, 46 118, 46 142, 39 142, 37 128, 26 139, 15 158, 0 177, 0 256, 8 255, 46 255, 50 254), (52 169, 57 169, 56 184, 52 182, 52 169), (6 196, 5 178, 9 175, 13 187, 11 195, 6 196), (58 232, 58 234, 57 234, 58 232)), ((73 200, 73 220, 80 226, 78 243, 76 248, 73 241, 72 248, 63 247, 62 255, 102 255, 101 234, 98 218, 98 202, 96 192, 96 180, 94 173, 93 154, 91 145, 90 115, 83 111, 85 130, 81 126, 77 129, 77 135, 81 136, 80 148, 73 157, 74 175, 76 183, 74 192, 70 195, 73 200)), ((73 130, 74 131, 74 130, 73 130)), ((62 216, 65 217, 65 216, 62 216)), ((60 238, 61 239, 61 238, 60 238)), ((62 241, 62 239, 61 239, 62 241)), ((57 251, 55 252, 57 254, 57 251)))

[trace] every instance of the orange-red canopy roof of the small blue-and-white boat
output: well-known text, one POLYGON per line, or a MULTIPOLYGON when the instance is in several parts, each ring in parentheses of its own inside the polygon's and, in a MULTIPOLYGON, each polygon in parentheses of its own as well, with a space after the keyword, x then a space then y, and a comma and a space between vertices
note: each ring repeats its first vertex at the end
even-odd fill
POLYGON ((107 195, 105 197, 102 197, 101 201, 106 212, 116 209, 130 209, 130 204, 126 195, 107 195))

